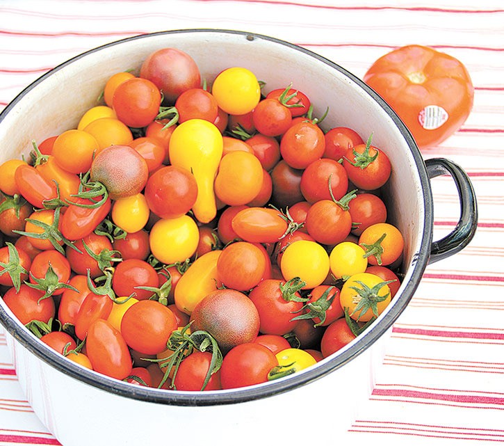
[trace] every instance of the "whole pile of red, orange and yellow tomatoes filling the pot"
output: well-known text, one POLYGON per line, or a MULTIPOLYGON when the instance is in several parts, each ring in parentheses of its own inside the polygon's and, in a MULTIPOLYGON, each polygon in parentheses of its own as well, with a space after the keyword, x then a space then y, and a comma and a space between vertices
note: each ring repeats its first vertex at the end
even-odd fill
POLYGON ((1 164, 0 285, 19 321, 101 374, 196 391, 298 372, 372 324, 400 285, 390 161, 272 87, 244 67, 202 79, 161 49, 1 164))

